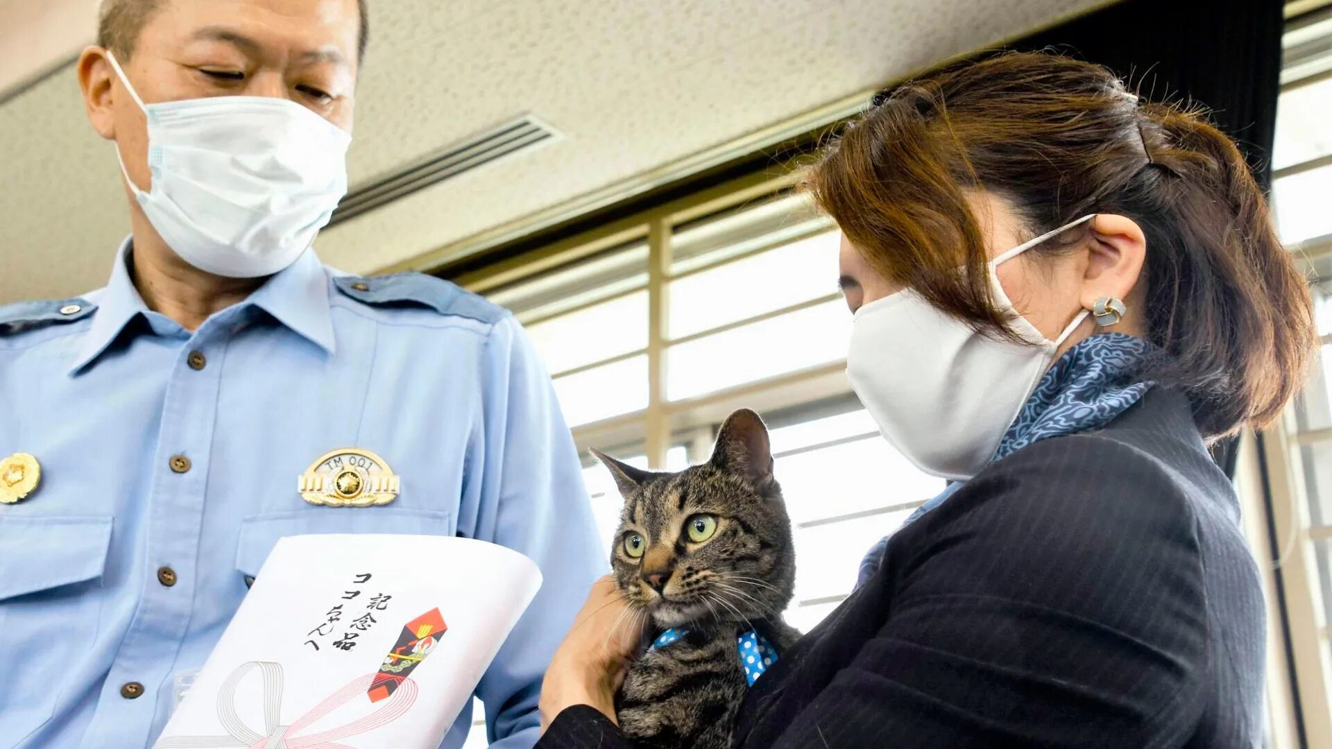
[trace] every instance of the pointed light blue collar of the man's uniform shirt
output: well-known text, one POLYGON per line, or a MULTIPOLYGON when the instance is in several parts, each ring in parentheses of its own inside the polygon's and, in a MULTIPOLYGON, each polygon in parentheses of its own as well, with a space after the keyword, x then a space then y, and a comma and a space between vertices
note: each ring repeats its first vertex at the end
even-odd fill
MULTIPOLYGON (((136 316, 147 315, 148 305, 129 277, 129 253, 133 237, 125 237, 116 251, 116 261, 107 287, 87 299, 97 304, 92 327, 84 335, 69 372, 77 373, 92 364, 116 340, 136 316)), ((324 264, 313 249, 306 249, 292 265, 258 288, 242 305, 268 312, 278 323, 300 333, 328 353, 334 351, 333 319, 329 309, 329 281, 324 264)))

